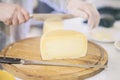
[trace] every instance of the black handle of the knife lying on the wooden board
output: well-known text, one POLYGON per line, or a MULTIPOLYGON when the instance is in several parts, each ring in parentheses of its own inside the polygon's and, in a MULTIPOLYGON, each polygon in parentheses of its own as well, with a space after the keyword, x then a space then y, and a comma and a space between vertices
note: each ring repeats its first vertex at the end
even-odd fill
POLYGON ((21 59, 19 59, 19 58, 10 58, 10 57, 0 57, 0 63, 4 63, 4 64, 20 64, 21 59))

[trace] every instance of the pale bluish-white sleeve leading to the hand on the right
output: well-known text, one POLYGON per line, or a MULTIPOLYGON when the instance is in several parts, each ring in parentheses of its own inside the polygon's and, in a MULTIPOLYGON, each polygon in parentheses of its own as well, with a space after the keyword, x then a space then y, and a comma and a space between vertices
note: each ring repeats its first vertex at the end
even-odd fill
POLYGON ((50 7, 52 7, 54 10, 58 12, 67 12, 66 6, 67 6, 67 0, 40 0, 46 4, 48 4, 50 7))

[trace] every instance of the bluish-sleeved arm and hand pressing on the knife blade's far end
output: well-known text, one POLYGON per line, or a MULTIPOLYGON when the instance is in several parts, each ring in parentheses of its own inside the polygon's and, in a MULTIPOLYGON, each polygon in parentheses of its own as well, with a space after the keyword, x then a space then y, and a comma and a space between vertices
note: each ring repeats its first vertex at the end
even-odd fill
POLYGON ((70 13, 88 20, 91 28, 98 26, 100 15, 97 9, 85 0, 42 0, 58 12, 70 13))

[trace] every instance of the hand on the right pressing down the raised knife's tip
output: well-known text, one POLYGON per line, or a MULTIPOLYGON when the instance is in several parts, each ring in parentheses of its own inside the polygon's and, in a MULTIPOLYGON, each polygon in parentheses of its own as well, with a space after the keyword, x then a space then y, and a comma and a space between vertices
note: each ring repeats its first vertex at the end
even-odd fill
POLYGON ((92 4, 80 0, 68 0, 67 9, 74 16, 88 19, 90 28, 98 26, 100 15, 92 4))

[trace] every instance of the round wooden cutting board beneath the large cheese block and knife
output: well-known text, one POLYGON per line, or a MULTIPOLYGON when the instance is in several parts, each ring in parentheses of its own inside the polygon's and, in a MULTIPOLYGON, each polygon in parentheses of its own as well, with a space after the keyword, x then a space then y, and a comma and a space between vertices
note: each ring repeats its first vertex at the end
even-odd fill
MULTIPOLYGON (((2 55, 41 61, 40 38, 29 38, 9 45, 2 50, 2 55)), ((108 56, 106 51, 92 42, 88 42, 87 56, 79 59, 51 60, 73 64, 101 64, 106 65, 108 56)), ((43 65, 2 64, 4 69, 23 80, 81 80, 96 75, 103 69, 78 68, 43 65)))

